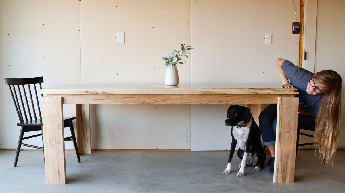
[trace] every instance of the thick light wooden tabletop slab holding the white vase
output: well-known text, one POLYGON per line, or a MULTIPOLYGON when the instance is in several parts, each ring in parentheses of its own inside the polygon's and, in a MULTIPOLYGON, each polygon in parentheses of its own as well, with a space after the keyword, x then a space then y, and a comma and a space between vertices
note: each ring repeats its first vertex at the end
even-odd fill
POLYGON ((42 94, 298 94, 263 84, 70 84, 41 90, 42 94))

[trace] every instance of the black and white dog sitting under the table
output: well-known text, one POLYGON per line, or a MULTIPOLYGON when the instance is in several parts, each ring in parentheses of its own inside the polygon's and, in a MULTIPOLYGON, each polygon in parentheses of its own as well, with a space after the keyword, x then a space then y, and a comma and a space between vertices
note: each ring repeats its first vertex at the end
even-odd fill
POLYGON ((234 156, 237 143, 239 146, 237 156, 239 159, 242 159, 237 176, 244 175, 246 164, 255 166, 256 171, 261 170, 261 168, 264 167, 266 154, 261 145, 260 129, 255 123, 250 109, 245 106, 231 105, 228 109, 225 125, 231 127, 231 137, 233 141, 231 142, 228 166, 224 174, 230 173, 231 159, 234 156))

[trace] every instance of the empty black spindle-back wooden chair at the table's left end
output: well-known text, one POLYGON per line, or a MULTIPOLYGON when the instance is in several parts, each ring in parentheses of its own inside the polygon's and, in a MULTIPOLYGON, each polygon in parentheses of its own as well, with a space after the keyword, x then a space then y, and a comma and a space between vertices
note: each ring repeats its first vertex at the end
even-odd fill
MULTIPOLYGON (((41 117, 41 110, 40 110, 40 105, 38 102, 37 89, 36 89, 36 84, 39 84, 40 89, 42 89, 42 86, 41 86, 42 82, 43 82, 43 77, 5 78, 5 83, 8 84, 10 88, 14 106, 16 107, 18 118, 20 121, 20 123, 17 123, 17 125, 21 126, 18 147, 17 147, 17 154, 16 154, 16 159, 14 161, 14 167, 17 166, 17 161, 18 161, 18 156, 19 156, 19 151, 20 151, 21 146, 27 146, 27 147, 43 150, 43 147, 38 147, 38 146, 22 143, 24 139, 29 139, 29 138, 38 137, 42 135, 42 133, 40 133, 37 135, 24 137, 25 132, 32 132, 32 131, 39 131, 39 130, 42 132, 42 117, 41 117), (20 86, 22 87, 22 89, 20 88, 20 86), (31 91, 32 89, 34 91, 31 91), (18 98, 18 95, 19 95, 19 98, 18 98), (35 95, 36 98, 35 99, 32 98, 32 95, 35 95), (29 102, 28 102, 28 99, 29 99, 29 102), (39 117, 37 117, 36 112, 38 112, 39 117), (33 118, 32 118, 32 115, 33 115, 33 118), (25 117, 25 120, 23 119, 23 116, 25 117)), ((41 94, 41 97, 43 97, 43 94, 41 94)), ((73 141, 78 162, 80 163, 76 136, 75 136, 74 128, 72 124, 72 120, 75 120, 75 119, 76 117, 63 117, 63 127, 69 127, 71 130, 72 136, 66 137, 65 141, 73 141)), ((42 136, 42 140, 43 140, 43 136, 42 136)))

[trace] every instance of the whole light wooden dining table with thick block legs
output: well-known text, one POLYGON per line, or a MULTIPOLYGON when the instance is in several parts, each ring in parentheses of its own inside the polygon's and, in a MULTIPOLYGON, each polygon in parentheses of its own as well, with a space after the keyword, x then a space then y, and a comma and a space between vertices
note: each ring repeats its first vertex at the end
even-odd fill
MULTIPOLYGON (((278 104, 275 183, 294 182, 298 94, 264 84, 70 84, 41 89, 47 184, 66 184, 63 105, 75 104, 80 154, 91 154, 89 104, 247 104, 258 123, 265 104, 278 104)), ((193 128, 191 128, 193 129, 193 128)))

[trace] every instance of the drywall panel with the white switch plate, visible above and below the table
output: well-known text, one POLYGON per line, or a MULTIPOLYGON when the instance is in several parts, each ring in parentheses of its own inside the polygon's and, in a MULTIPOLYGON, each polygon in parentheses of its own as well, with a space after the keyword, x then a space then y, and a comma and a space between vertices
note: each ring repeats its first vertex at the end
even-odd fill
MULTIPOLYGON (((80 12, 82 83, 164 84, 162 57, 191 42, 190 0, 83 0, 80 12)), ((184 59, 179 81, 190 83, 184 59)), ((190 149, 189 104, 91 105, 90 116, 92 149, 190 149)))

